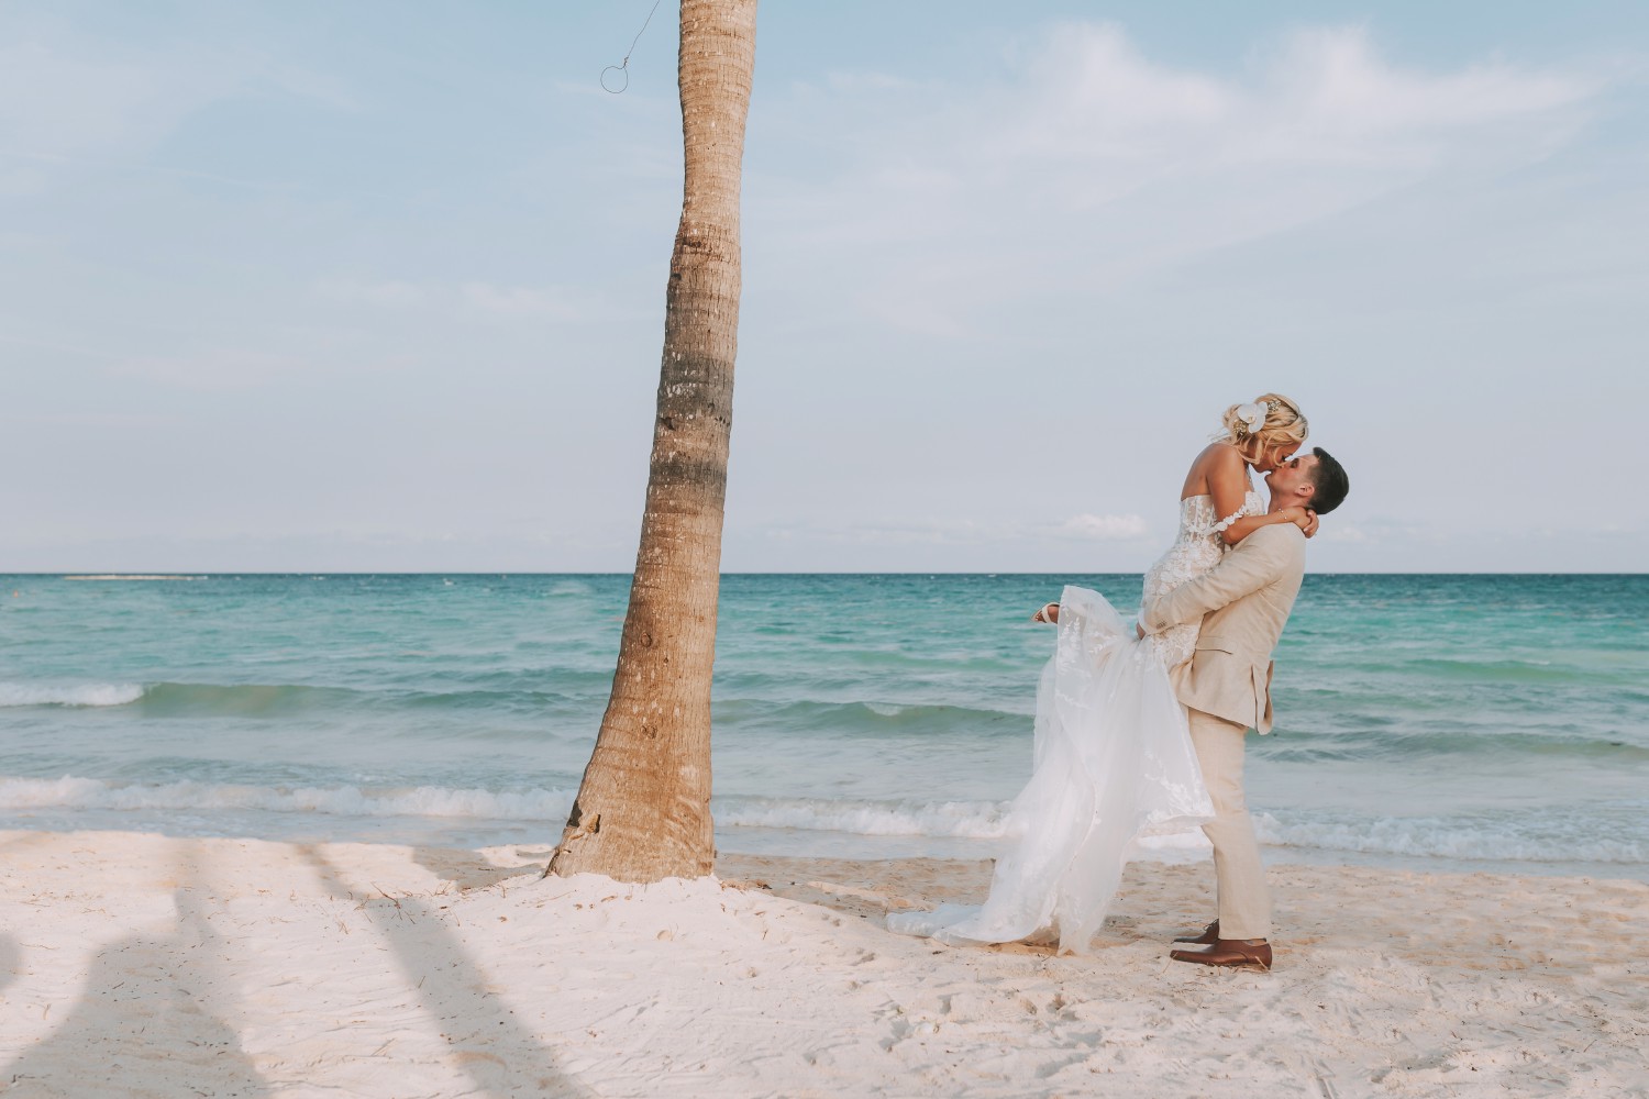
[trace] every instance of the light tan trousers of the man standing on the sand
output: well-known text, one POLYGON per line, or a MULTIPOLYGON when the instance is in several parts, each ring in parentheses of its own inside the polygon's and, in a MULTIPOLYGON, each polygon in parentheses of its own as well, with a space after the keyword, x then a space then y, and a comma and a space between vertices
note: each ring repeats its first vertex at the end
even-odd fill
POLYGON ((1187 710, 1191 745, 1214 799, 1214 821, 1202 832, 1214 844, 1222 939, 1270 939, 1271 893, 1265 888, 1260 842, 1242 793, 1242 751, 1248 730, 1237 722, 1187 710))

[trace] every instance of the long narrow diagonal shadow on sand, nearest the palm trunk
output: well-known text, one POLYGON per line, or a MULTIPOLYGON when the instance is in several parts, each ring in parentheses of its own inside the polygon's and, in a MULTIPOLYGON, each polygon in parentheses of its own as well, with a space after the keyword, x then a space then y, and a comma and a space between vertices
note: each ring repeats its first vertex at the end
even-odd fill
MULTIPOLYGON (((298 850, 336 896, 356 896, 355 888, 322 855, 320 849, 302 844, 298 850)), ((439 862, 439 865, 449 863, 450 860, 439 862)), ((430 868, 434 870, 434 867, 430 868)), ((501 870, 501 877, 491 880, 518 873, 543 873, 534 867, 488 868, 501 870)), ((490 880, 482 882, 486 877, 485 870, 480 867, 472 867, 472 870, 475 882, 491 883, 490 880)), ((458 880, 440 870, 435 873, 444 880, 458 880)), ((460 888, 467 886, 460 885, 460 888)), ((493 995, 482 969, 447 929, 440 910, 429 898, 379 895, 361 900, 359 911, 394 949, 407 984, 417 989, 430 1018, 440 1020, 442 1038, 452 1046, 453 1064, 475 1083, 480 1092, 500 1099, 518 1094, 567 1099, 594 1099, 597 1096, 592 1087, 574 1079, 561 1066, 556 1051, 541 1043, 538 1035, 523 1027, 514 1013, 493 995)))

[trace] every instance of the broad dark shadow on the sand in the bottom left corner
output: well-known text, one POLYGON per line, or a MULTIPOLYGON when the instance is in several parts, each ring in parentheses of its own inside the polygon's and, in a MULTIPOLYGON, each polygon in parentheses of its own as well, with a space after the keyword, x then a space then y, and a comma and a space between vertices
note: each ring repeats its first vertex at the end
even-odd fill
MULTIPOLYGON (((241 1048, 241 1033, 214 1008, 221 939, 198 911, 193 890, 173 891, 170 934, 134 934, 97 951, 86 990, 68 1018, 10 1064, 7 1099, 76 1096, 269 1096, 267 1079, 241 1048)), ((25 961, 7 942, 7 974, 25 961)), ((223 1007, 221 1003, 216 1007, 223 1007)))

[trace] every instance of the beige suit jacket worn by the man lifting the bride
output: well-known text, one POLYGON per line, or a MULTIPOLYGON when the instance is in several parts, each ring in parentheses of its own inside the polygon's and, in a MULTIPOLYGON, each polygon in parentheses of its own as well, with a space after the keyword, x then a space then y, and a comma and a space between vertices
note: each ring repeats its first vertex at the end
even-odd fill
POLYGON ((1171 672, 1174 694, 1245 728, 1271 732, 1271 651, 1306 573, 1306 535, 1293 522, 1260 527, 1209 572, 1148 601, 1148 633, 1202 620, 1191 659, 1171 672))

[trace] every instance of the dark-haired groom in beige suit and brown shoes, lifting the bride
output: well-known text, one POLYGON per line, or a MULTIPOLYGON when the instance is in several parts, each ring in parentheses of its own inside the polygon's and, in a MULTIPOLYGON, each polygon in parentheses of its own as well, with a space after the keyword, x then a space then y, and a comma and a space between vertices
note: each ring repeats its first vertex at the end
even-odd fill
MULTIPOLYGON (((1346 470, 1321 447, 1265 481, 1273 512, 1304 506, 1326 514, 1351 488, 1346 470)), ((1196 652, 1174 669, 1174 692, 1189 709, 1191 743, 1214 799, 1214 821, 1202 830, 1214 842, 1219 918, 1202 934, 1176 939, 1207 947, 1172 951, 1177 962, 1271 967, 1271 896, 1243 801, 1242 758, 1250 728, 1271 732, 1271 649, 1304 570, 1306 535, 1298 526, 1260 527, 1202 577, 1153 598, 1139 616, 1146 633, 1202 620, 1196 652)))

